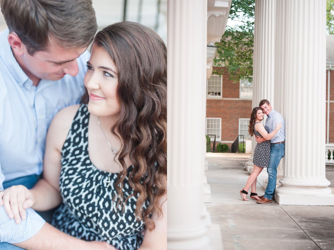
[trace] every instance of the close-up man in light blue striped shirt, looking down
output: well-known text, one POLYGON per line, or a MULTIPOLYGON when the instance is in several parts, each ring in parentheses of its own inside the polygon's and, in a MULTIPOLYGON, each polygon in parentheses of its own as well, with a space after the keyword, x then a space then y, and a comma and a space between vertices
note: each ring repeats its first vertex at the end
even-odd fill
MULTIPOLYGON (((78 103, 85 91, 85 51, 97 31, 95 11, 91 0, 0 4, 8 26, 0 34, 0 190, 31 188, 42 172, 53 116, 78 103)), ((0 207, 0 249, 16 248, 8 243, 26 249, 113 249, 68 236, 31 209, 24 217, 10 219, 0 207)))

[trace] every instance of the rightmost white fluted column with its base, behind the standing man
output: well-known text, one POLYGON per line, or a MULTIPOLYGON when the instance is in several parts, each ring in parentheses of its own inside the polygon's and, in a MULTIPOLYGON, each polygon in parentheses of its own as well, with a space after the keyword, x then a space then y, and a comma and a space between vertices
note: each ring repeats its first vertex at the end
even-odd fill
POLYGON ((325 176, 326 1, 277 0, 285 166, 276 201, 334 205, 325 176))

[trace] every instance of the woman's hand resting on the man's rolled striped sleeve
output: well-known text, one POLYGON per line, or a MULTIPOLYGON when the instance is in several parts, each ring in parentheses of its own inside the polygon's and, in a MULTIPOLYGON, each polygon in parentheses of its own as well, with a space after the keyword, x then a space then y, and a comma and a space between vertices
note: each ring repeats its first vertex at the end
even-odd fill
POLYGON ((35 199, 28 188, 22 185, 11 186, 0 192, 0 206, 4 206, 10 219, 14 218, 15 223, 21 223, 26 218, 25 209, 31 207, 35 199))

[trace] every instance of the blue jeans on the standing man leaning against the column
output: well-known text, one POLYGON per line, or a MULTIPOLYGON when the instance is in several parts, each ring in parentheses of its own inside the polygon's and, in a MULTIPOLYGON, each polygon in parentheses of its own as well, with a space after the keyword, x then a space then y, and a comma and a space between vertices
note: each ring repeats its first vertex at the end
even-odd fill
POLYGON ((268 172, 268 185, 265 191, 264 197, 272 199, 275 194, 276 179, 277 179, 277 167, 280 164, 281 159, 285 153, 285 144, 272 144, 270 147, 270 159, 267 168, 268 172))

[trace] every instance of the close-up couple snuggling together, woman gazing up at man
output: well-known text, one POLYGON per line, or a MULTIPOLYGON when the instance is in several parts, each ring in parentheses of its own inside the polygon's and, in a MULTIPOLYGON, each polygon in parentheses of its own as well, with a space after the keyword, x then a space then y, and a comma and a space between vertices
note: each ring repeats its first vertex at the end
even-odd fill
POLYGON ((91 0, 0 5, 0 249, 166 249, 162 39, 96 34, 91 0))

